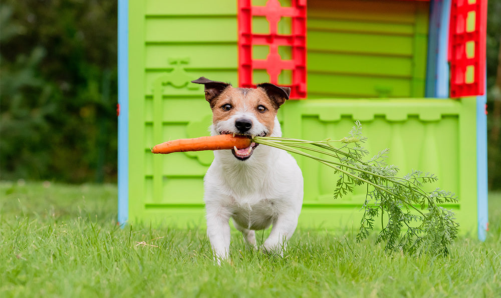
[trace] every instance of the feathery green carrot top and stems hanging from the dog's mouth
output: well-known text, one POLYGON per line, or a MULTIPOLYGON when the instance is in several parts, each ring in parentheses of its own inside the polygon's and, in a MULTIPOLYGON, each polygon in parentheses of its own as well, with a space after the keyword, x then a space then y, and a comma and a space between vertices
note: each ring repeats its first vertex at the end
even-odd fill
POLYGON ((349 137, 337 141, 312 142, 275 137, 255 137, 253 141, 310 157, 331 167, 339 175, 334 189, 335 199, 352 192, 356 185, 366 185, 358 241, 369 236, 377 219, 381 221, 381 231, 376 243, 384 242, 390 251, 446 255, 452 240, 457 237, 458 224, 454 221, 454 213, 440 206, 456 202, 456 196, 441 189, 424 190, 423 184, 438 179, 432 173, 413 170, 403 177, 397 176, 398 168, 386 163, 388 149, 364 161, 369 152, 361 145, 366 138, 358 121, 349 137), (333 143, 341 146, 336 147, 333 143))

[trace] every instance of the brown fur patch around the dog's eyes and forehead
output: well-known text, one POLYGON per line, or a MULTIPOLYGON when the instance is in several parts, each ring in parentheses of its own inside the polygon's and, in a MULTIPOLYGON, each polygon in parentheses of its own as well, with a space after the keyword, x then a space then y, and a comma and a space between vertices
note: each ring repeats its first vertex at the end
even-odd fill
MULTIPOLYGON (((212 123, 228 121, 233 116, 254 118, 266 127, 266 135, 273 132, 279 105, 261 89, 228 87, 214 100, 212 123)), ((235 118, 233 117, 233 118, 235 118)), ((256 125, 257 123, 253 123, 256 125)))

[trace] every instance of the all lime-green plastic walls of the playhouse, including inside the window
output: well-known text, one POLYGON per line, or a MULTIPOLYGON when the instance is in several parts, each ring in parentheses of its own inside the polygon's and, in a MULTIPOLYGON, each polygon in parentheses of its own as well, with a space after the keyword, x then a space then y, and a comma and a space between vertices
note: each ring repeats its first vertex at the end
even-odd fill
MULTIPOLYGON (((441 178, 440 187, 456 191, 460 202, 449 207, 466 227, 462 231, 474 232, 475 101, 419 98, 427 6, 395 2, 392 11, 381 5, 386 2, 369 1, 377 5, 372 15, 361 1, 318 3, 328 9, 309 8, 311 96, 280 109, 284 136, 340 138, 360 120, 371 153, 391 148, 390 162, 402 172, 432 171, 441 178), (352 11, 332 14, 341 8, 352 11), (322 40, 328 48, 321 48, 322 40)), ((263 28, 262 21, 256 28, 263 28)), ((287 21, 283 24, 286 28, 287 21)), ((189 81, 204 76, 237 85, 236 30, 235 1, 129 2, 129 222, 205 224, 202 179, 212 152, 154 155, 150 148, 208 135, 211 113, 203 86, 189 81)), ((255 55, 266 55, 262 50, 255 55)), ((305 178, 299 225, 336 229, 358 223, 363 190, 334 200, 336 177, 329 168, 296 159, 305 178)))

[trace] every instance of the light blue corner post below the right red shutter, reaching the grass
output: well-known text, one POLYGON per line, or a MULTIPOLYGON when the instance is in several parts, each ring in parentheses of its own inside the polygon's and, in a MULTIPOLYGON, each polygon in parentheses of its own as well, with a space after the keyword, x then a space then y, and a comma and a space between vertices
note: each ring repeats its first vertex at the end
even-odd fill
POLYGON ((477 173, 477 217, 478 239, 485 241, 488 224, 487 198, 487 115, 484 95, 476 98, 476 173, 477 173))

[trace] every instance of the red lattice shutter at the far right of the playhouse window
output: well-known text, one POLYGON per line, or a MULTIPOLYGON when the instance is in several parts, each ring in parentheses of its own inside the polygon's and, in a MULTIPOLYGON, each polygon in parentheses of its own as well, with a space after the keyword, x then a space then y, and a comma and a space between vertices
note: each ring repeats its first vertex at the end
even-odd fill
POLYGON ((450 97, 485 92, 487 0, 452 0, 449 24, 450 97))

